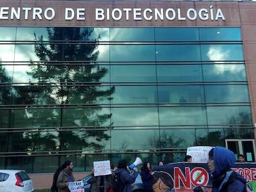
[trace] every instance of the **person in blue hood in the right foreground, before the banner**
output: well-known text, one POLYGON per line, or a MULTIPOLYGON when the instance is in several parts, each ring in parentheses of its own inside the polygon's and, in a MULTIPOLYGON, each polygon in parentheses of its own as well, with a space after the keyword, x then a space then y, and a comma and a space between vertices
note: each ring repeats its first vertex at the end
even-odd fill
POLYGON ((212 177, 212 192, 245 192, 246 181, 231 170, 236 158, 231 150, 215 147, 209 152, 208 166, 212 177))

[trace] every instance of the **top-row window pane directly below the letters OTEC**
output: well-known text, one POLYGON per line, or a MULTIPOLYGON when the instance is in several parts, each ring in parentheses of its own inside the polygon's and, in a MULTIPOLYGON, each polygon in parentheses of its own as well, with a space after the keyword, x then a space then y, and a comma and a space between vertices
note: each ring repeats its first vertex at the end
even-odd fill
POLYGON ((111 42, 154 42, 154 28, 110 28, 111 42))

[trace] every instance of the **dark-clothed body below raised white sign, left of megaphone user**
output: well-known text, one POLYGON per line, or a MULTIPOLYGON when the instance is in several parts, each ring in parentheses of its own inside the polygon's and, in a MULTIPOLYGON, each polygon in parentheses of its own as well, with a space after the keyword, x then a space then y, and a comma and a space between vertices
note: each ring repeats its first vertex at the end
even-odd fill
POLYGON ((92 170, 92 179, 88 182, 91 184, 91 192, 107 192, 111 189, 113 175, 94 176, 94 169, 92 170))

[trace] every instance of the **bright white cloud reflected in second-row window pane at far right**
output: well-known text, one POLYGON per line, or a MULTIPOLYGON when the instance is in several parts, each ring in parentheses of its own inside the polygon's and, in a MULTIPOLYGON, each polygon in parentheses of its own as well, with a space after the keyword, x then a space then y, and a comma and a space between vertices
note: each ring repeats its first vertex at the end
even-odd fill
POLYGON ((211 61, 225 61, 229 58, 230 50, 224 51, 221 45, 210 45, 207 56, 211 61))

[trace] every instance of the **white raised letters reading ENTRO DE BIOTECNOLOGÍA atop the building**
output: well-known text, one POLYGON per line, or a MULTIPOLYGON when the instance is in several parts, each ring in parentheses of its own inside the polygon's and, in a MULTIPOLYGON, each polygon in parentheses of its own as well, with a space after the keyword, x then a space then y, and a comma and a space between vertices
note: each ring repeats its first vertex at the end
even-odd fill
MULTIPOLYGON (((53 20, 64 12, 63 20, 86 20, 86 8, 0 7, 0 20, 53 20)), ((97 20, 225 20, 220 8, 95 8, 97 20)))

